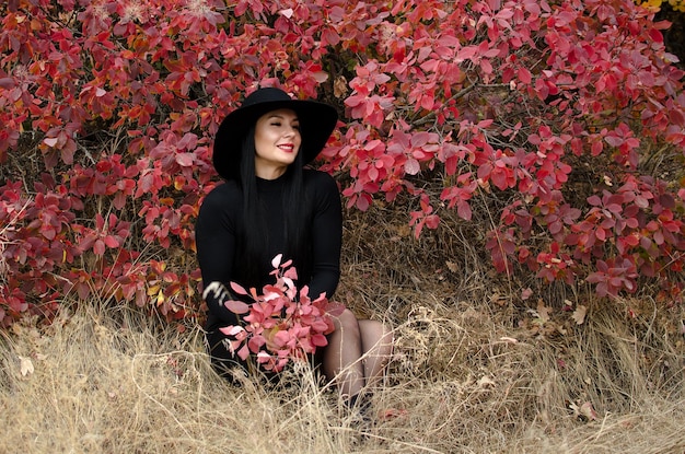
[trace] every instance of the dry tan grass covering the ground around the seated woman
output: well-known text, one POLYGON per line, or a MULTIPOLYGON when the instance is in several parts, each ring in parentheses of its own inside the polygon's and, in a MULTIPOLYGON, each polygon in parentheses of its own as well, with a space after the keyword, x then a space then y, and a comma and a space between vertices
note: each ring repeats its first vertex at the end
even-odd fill
POLYGON ((199 329, 100 302, 1 338, 0 452, 685 452, 683 309, 585 299, 577 325, 553 289, 541 314, 489 273, 476 232, 454 223, 415 242, 405 221, 379 208, 346 232, 339 298, 395 327, 374 424, 306 368, 233 387, 199 329))

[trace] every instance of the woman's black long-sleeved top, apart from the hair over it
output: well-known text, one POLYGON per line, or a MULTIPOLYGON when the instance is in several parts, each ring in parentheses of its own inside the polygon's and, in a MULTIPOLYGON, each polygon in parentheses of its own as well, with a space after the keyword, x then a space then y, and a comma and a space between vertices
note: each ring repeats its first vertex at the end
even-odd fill
MULTIPOLYGON (((306 283, 311 296, 315 298, 325 292, 327 298, 332 298, 340 277, 342 236, 340 195, 335 181, 326 173, 305 170, 303 178, 304 191, 307 195, 303 202, 312 203, 312 207, 304 211, 313 214, 310 236, 313 263, 310 267, 312 276, 300 276, 299 287, 306 283)), ((272 181, 257 178, 260 201, 269 213, 269 241, 264 242, 264 247, 268 249, 266 256, 271 258, 283 252, 288 240, 285 237, 283 186, 283 177, 272 181)), ((242 213, 243 197, 235 182, 229 181, 217 186, 205 198, 195 231, 197 258, 205 288, 214 281, 230 288, 230 282, 236 281, 236 269, 243 259, 236 256, 237 225, 242 213)), ((266 270, 264 283, 272 282, 272 278, 268 276, 270 263, 264 264, 264 268, 266 270)), ((242 282, 237 283, 246 287, 242 282)), ((236 323, 235 314, 224 307, 211 292, 206 302, 209 311, 206 324, 208 331, 236 323)))

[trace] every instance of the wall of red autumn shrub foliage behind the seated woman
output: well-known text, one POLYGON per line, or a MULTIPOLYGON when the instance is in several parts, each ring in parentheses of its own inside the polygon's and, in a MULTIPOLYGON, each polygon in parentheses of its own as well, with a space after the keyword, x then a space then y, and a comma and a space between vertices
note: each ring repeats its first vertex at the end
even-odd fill
POLYGON ((95 294, 197 314, 212 138, 259 84, 339 107, 320 165, 348 207, 406 203, 416 237, 454 211, 501 272, 682 298, 683 72, 630 0, 10 0, 0 16, 2 325, 95 294))

